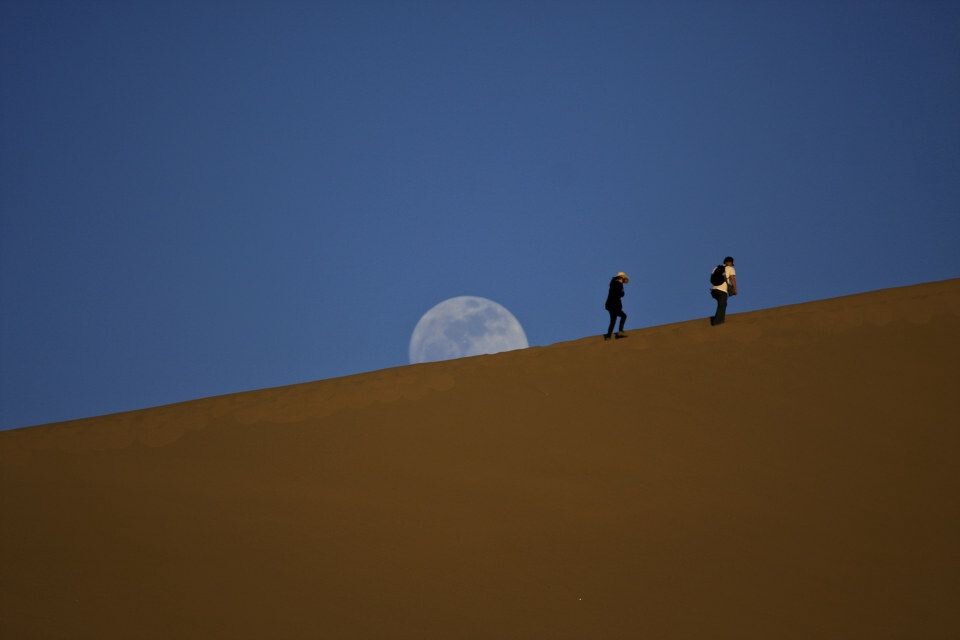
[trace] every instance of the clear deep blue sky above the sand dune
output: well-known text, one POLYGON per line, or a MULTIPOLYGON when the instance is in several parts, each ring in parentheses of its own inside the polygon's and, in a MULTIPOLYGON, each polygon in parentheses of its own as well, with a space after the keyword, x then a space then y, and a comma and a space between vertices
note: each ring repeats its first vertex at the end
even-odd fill
MULTIPOLYGON (((0 3, 0 427, 960 276, 955 2, 0 3)), ((710 366, 710 363, 704 363, 710 366)))

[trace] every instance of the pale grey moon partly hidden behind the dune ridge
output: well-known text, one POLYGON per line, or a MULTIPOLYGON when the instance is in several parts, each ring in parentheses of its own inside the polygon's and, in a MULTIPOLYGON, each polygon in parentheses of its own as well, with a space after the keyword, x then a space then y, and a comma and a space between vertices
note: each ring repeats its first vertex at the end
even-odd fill
POLYGON ((458 296, 420 318, 410 336, 410 363, 450 360, 529 347, 513 314, 493 300, 458 296))

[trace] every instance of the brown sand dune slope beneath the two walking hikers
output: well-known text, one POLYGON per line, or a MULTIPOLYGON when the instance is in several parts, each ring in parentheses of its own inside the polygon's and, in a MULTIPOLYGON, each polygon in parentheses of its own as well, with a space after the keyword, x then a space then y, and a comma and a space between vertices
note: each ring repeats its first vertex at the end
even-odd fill
POLYGON ((960 634, 960 280, 0 433, 4 638, 960 634))

